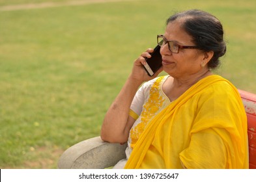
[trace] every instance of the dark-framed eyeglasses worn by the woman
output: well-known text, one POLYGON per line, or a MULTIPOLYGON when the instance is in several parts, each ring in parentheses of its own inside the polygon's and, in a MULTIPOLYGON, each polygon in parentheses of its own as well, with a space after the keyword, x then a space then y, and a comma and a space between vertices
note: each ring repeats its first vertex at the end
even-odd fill
POLYGON ((164 35, 158 35, 158 45, 163 47, 165 44, 168 43, 168 48, 172 53, 178 53, 179 49, 197 49, 197 46, 190 46, 190 45, 178 45, 177 43, 167 40, 164 35))

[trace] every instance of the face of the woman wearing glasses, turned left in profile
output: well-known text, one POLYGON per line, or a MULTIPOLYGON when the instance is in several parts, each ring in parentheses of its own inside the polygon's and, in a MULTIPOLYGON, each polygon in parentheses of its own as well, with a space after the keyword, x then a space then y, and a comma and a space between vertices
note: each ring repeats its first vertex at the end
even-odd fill
MULTIPOLYGON (((178 45, 194 45, 192 37, 180 28, 180 21, 168 23, 164 37, 167 40, 177 42, 178 45)), ((178 53, 172 53, 165 44, 160 49, 163 59, 164 71, 174 78, 189 79, 203 72, 201 62, 205 55, 198 49, 179 49, 178 53)))

